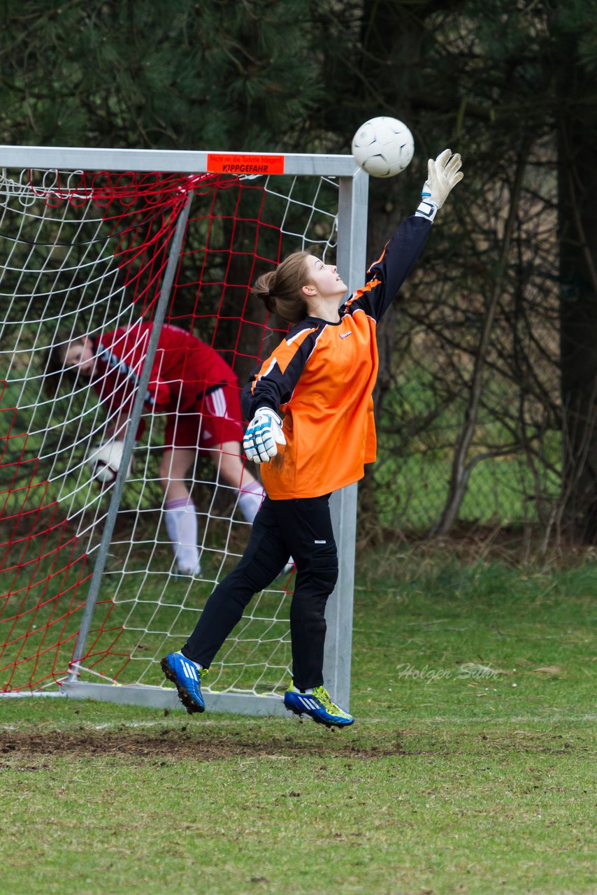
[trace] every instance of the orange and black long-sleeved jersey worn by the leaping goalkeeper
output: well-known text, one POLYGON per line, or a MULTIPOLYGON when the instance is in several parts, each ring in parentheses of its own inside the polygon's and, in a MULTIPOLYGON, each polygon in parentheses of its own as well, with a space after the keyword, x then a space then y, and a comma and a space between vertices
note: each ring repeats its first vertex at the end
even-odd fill
POLYGON ((270 499, 320 497, 362 479, 363 465, 375 460, 376 325, 430 230, 425 218, 407 218, 337 323, 306 317, 253 371, 243 389, 247 419, 263 406, 284 413, 286 445, 260 466, 270 499))

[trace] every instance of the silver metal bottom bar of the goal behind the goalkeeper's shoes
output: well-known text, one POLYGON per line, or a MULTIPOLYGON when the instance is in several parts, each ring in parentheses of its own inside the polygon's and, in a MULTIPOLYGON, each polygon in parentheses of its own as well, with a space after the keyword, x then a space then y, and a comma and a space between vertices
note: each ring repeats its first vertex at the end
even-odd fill
MULTIPOLYGON (((183 705, 174 688, 161 686, 120 686, 89 684, 85 681, 64 682, 61 692, 69 699, 95 699, 102 703, 141 705, 152 709, 181 709, 183 705)), ((254 696, 236 693, 203 691, 207 712, 229 712, 243 715, 288 715, 280 696, 254 696)))

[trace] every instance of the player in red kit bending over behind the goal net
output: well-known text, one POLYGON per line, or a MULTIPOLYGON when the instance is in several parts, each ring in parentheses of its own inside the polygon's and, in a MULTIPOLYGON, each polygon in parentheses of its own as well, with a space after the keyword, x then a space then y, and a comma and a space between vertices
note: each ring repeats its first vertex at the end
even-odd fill
MULTIPOLYGON (((90 379, 112 419, 108 437, 124 438, 152 326, 141 321, 97 338, 77 337, 52 349, 51 369, 72 368, 90 379)), ((165 495, 166 531, 181 574, 200 572, 196 507, 185 481, 198 451, 209 455, 217 480, 236 490, 247 522, 252 523, 263 499, 260 482, 244 468, 238 392, 235 373, 217 351, 181 328, 161 328, 145 408, 166 416, 158 474, 165 495)), ((138 438, 144 429, 141 419, 138 438)))

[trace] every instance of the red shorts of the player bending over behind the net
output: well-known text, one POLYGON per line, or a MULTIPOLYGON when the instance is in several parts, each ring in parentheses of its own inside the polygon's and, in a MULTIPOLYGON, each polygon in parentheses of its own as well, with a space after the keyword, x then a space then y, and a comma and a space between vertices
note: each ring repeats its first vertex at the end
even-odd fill
POLYGON ((238 388, 218 386, 184 413, 166 413, 164 447, 206 450, 226 441, 243 441, 243 414, 238 388))

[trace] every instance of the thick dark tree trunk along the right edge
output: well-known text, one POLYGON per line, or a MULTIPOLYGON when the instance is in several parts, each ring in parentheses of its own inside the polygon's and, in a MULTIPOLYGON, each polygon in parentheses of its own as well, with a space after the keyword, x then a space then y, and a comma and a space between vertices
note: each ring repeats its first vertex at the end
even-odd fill
POLYGON ((561 391, 567 515, 597 537, 597 4, 573 4, 554 24, 558 70, 561 391))

